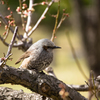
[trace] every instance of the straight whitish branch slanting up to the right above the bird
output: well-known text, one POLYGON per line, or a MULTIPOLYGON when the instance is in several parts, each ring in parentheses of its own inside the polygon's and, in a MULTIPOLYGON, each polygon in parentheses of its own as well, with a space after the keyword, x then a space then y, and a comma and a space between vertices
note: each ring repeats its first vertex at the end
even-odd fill
POLYGON ((35 26, 32 28, 32 30, 28 33, 28 37, 36 30, 36 28, 38 27, 38 25, 40 24, 40 22, 42 21, 42 19, 45 17, 45 14, 48 12, 49 8, 51 7, 51 5, 54 3, 54 0, 51 0, 51 2, 48 4, 47 8, 45 9, 45 11, 43 12, 43 14, 41 15, 41 17, 39 18, 39 20, 37 21, 37 23, 35 24, 35 26))

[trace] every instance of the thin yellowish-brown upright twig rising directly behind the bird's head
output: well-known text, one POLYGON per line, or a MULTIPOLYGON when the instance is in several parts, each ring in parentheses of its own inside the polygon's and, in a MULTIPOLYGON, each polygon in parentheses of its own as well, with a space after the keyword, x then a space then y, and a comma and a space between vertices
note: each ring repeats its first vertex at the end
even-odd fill
POLYGON ((58 24, 59 12, 60 12, 60 0, 59 0, 59 3, 58 3, 58 11, 57 11, 56 21, 55 21, 55 26, 54 26, 54 29, 53 29, 51 41, 54 41, 54 38, 55 38, 57 24, 58 24))

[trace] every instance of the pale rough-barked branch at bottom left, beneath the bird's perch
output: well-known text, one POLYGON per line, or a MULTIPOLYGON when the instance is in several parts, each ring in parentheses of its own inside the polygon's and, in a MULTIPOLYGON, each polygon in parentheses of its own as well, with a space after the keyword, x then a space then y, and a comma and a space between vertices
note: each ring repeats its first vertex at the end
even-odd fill
MULTIPOLYGON (((43 100, 42 97, 37 93, 24 93, 23 90, 0 87, 0 100, 43 100)), ((46 98, 46 100, 52 99, 46 98)))

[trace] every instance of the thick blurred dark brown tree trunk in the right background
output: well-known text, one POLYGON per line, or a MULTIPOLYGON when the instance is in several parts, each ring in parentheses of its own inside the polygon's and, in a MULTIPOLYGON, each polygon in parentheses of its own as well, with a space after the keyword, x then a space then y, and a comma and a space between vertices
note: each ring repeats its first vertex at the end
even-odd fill
MULTIPOLYGON (((73 0, 78 12, 80 31, 87 53, 89 67, 95 75, 100 75, 100 0, 92 0, 85 5, 83 0, 73 0)), ((77 24, 77 23, 76 23, 77 24)))

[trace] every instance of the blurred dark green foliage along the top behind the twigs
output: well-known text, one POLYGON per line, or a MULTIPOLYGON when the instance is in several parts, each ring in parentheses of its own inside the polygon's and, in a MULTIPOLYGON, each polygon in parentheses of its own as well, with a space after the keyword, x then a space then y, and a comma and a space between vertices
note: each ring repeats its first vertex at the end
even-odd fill
MULTIPOLYGON (((14 12, 14 14, 15 14, 14 18, 15 18, 15 20, 17 20, 16 24, 21 24, 20 15, 18 15, 16 12, 16 8, 19 6, 19 0, 3 0, 3 1, 5 1, 6 7, 10 6, 11 10, 14 12)), ((46 1, 46 0, 44 0, 44 1, 46 1)), ((51 0, 48 0, 48 1, 51 1, 51 0)), ((40 3, 40 2, 43 2, 43 0, 34 0, 34 3, 40 3)), ((82 2, 86 6, 88 6, 92 3, 91 0, 80 0, 80 2, 82 2)), ((28 5, 29 0, 26 0, 25 3, 28 5)), ((73 11, 72 3, 73 3, 73 0, 60 0, 60 14, 59 14, 58 20, 60 20, 62 14, 63 14, 63 9, 66 9, 66 13, 69 13, 69 15, 70 15, 70 13, 73 11)), ((46 8, 46 5, 44 5, 44 6, 38 5, 38 6, 34 7, 35 12, 33 12, 32 24, 36 23, 36 21, 41 16, 41 14, 43 13, 45 8, 46 8)), ((41 22, 41 25, 46 25, 48 28, 52 29, 54 27, 55 18, 51 17, 51 15, 56 15, 57 9, 58 9, 58 3, 56 2, 49 9, 49 12, 46 14, 46 18, 41 22)), ((64 26, 64 25, 67 25, 70 27, 71 24, 70 24, 69 19, 67 19, 62 24, 62 26, 64 26)))

